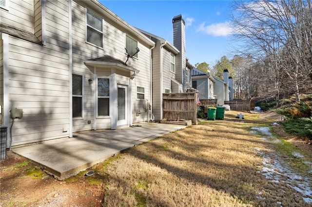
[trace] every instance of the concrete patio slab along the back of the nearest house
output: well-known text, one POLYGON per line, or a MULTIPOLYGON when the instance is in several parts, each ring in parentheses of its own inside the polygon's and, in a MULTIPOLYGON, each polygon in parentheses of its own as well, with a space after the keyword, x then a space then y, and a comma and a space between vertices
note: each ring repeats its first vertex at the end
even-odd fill
POLYGON ((103 162, 134 145, 147 142, 184 125, 138 123, 138 127, 74 133, 73 138, 43 141, 12 148, 58 179, 64 179, 103 162))

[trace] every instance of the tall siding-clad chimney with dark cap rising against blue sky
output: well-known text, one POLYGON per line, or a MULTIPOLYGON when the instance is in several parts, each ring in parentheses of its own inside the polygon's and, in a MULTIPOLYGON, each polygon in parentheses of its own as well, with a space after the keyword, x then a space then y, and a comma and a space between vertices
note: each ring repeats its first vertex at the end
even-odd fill
MULTIPOLYGON (((186 92, 186 52, 185 52, 185 22, 182 15, 177 15, 172 19, 174 46, 180 52, 176 55, 176 80, 182 83, 183 92, 186 92)), ((181 91, 182 92, 182 91, 181 91)))

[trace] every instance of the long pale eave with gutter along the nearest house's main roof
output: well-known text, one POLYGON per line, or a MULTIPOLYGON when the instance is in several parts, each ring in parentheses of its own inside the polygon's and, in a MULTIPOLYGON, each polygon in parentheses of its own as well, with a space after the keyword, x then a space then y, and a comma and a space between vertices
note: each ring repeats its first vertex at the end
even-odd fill
POLYGON ((150 47, 153 47, 155 45, 155 43, 149 38, 147 38, 147 36, 143 35, 135 27, 128 24, 122 18, 118 17, 115 13, 113 13, 111 10, 106 8, 103 4, 98 2, 98 0, 85 0, 83 1, 83 3, 88 5, 94 11, 98 12, 99 15, 103 16, 105 18, 105 21, 110 20, 112 24, 117 25, 118 27, 122 28, 125 32, 128 33, 128 35, 131 35, 132 37, 137 38, 138 40, 140 40, 141 42, 144 42, 150 47))

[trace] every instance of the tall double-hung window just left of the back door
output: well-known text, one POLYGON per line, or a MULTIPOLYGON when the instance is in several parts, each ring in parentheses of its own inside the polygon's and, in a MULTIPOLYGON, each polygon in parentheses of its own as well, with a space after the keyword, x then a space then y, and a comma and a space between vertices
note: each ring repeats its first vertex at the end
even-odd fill
POLYGON ((98 117, 109 116, 109 78, 98 78, 98 117))

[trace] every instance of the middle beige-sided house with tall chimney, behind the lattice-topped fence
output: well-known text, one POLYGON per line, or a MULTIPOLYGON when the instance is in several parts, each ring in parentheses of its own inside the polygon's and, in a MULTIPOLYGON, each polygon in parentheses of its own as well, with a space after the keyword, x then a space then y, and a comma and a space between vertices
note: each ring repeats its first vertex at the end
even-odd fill
POLYGON ((162 119, 162 94, 182 93, 191 88, 191 69, 185 53, 185 22, 181 15, 173 18, 172 45, 168 40, 140 30, 155 42, 152 50, 153 115, 162 119))

